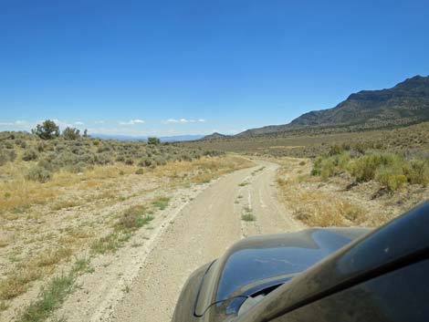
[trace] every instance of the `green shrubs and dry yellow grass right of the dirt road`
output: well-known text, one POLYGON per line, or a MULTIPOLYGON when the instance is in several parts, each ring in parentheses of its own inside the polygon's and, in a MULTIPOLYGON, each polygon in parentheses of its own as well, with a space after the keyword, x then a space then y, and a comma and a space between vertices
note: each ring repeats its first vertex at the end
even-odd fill
MULTIPOLYGON (((287 209, 309 226, 380 226, 429 195, 426 183, 413 182, 411 164, 399 154, 344 151, 333 147, 316 161, 285 158, 277 175, 287 209), (387 173, 387 174, 386 174, 387 173), (398 175, 403 179, 398 180, 398 175)), ((422 169, 419 167, 419 169, 422 169)), ((420 171, 420 170, 419 170, 420 171)))

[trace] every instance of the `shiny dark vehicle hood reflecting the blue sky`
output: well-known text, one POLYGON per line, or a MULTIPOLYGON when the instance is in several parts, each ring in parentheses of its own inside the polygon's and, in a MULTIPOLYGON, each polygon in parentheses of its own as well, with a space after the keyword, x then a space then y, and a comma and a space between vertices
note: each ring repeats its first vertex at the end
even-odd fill
POLYGON ((287 282, 369 232, 366 228, 316 228, 241 240, 207 270, 195 313, 220 315, 223 318, 233 315, 244 301, 244 296, 287 282))

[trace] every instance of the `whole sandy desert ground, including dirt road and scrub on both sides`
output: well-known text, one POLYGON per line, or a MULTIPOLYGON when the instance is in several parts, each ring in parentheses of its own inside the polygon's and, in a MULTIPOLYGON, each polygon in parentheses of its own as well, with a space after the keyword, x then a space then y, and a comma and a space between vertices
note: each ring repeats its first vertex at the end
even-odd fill
POLYGON ((194 269, 246 236, 377 227, 429 197, 425 146, 323 143, 315 159, 275 143, 5 140, 0 321, 167 322, 194 269))

